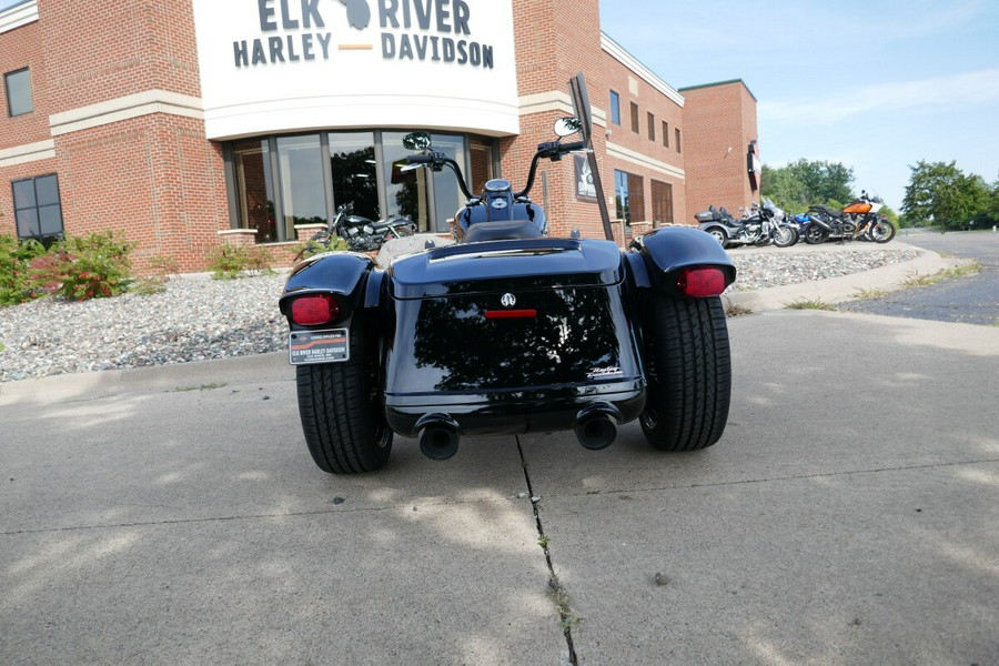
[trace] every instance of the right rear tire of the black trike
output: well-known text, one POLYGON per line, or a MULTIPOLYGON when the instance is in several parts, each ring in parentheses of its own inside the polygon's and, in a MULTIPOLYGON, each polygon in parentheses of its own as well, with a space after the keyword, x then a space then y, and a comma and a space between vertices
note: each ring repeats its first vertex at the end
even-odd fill
POLYGON ((639 417, 649 444, 696 451, 725 432, 731 355, 718 296, 680 300, 654 293, 648 303, 648 394, 639 417))

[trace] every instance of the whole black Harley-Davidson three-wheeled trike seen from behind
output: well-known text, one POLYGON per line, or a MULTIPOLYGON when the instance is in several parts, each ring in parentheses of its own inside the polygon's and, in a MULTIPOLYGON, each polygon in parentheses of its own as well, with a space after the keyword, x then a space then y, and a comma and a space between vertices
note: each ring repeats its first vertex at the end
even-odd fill
MULTIPOLYGON (((583 125, 585 127, 585 125, 583 125)), ((650 444, 715 444, 728 418, 730 357, 719 295, 736 270, 712 238, 663 228, 628 251, 548 238, 528 193, 541 160, 591 150, 556 123, 526 185, 488 181, 473 195, 426 133, 406 138, 408 168, 454 171, 467 198, 460 242, 396 259, 326 253, 300 263, 281 296, 299 412, 325 472, 382 467, 393 433, 446 460, 466 436, 574 430, 591 450, 640 422, 650 444)))

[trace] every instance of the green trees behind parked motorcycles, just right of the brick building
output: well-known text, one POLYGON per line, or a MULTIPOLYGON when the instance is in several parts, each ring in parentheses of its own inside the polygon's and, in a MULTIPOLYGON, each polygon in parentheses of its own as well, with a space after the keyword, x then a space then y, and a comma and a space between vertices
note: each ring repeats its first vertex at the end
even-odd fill
POLYGON ((809 205, 841 208, 854 199, 854 170, 839 162, 800 159, 777 169, 764 165, 760 180, 760 196, 773 199, 788 213, 800 213, 809 205))

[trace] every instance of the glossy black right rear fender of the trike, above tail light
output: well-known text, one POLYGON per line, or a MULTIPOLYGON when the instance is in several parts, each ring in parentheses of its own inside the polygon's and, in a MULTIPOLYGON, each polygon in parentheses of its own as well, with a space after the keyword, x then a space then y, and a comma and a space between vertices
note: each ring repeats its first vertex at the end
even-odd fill
POLYGON ((650 286, 669 294, 677 293, 677 281, 688 269, 716 268, 725 275, 725 286, 736 279, 735 264, 714 238, 689 226, 664 226, 632 242, 628 253, 637 286, 650 286), (642 284, 635 270, 634 254, 642 258, 647 284, 642 284))

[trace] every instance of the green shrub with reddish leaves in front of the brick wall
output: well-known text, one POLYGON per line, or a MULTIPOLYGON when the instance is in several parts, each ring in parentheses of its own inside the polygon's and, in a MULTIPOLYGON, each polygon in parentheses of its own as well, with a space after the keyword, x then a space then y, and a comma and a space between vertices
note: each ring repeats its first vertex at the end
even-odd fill
POLYGON ((135 244, 113 231, 70 238, 30 263, 31 281, 69 301, 117 296, 129 290, 135 244))

